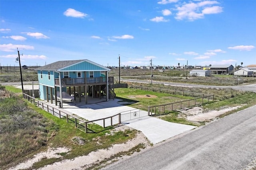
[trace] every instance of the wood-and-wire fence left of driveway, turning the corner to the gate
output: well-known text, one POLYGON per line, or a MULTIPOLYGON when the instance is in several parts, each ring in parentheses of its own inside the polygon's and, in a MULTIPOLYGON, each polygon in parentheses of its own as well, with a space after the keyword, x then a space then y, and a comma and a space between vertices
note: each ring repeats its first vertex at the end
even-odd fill
MULTIPOLYGON (((68 113, 65 113, 65 112, 61 111, 60 109, 54 108, 40 100, 37 100, 37 99, 29 96, 28 94, 23 93, 23 98, 25 100, 28 100, 30 103, 40 107, 41 109, 47 111, 48 113, 51 113, 52 115, 65 120, 67 123, 74 125, 75 128, 80 129, 81 131, 84 131, 86 133, 88 133, 89 131, 92 131, 91 129, 88 128, 88 126, 90 126, 93 123, 98 124, 104 128, 109 127, 109 126, 114 126, 116 124, 121 123, 120 113, 110 116, 110 117, 105 117, 102 119, 85 121, 85 120, 79 119, 73 115, 70 115, 68 113)), ((94 132, 94 131, 92 131, 92 132, 94 132)))

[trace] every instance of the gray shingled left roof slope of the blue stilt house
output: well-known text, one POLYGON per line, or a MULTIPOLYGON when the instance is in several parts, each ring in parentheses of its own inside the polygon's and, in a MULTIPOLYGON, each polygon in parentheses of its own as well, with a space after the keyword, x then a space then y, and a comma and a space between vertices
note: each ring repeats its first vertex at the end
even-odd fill
POLYGON ((70 66, 72 64, 82 62, 82 61, 86 61, 86 60, 57 61, 55 63, 51 63, 51 64, 47 64, 47 65, 42 66, 42 67, 38 67, 35 70, 58 70, 60 68, 64 68, 64 67, 70 66))

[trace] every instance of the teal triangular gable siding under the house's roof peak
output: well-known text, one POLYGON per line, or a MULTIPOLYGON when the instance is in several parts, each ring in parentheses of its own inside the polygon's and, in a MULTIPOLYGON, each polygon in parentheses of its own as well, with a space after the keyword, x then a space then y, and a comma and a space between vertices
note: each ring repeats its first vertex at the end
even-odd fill
POLYGON ((82 63, 75 64, 73 66, 69 66, 61 70, 64 71, 64 70, 106 70, 106 69, 84 61, 82 63))

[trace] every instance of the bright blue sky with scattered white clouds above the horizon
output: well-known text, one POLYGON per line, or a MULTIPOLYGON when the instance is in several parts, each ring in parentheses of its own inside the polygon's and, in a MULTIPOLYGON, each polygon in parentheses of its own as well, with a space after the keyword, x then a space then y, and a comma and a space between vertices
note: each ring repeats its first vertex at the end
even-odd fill
POLYGON ((256 64, 256 0, 1 0, 0 63, 256 64))

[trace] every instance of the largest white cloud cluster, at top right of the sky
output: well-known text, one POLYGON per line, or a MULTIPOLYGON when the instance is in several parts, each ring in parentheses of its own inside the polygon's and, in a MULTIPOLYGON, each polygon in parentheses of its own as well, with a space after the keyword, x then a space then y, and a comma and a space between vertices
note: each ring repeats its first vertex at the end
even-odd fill
POLYGON ((218 14, 222 12, 221 6, 212 6, 213 4, 219 4, 217 1, 206 0, 202 2, 190 2, 183 3, 181 6, 177 6, 176 20, 189 20, 194 21, 204 18, 205 14, 218 14))

